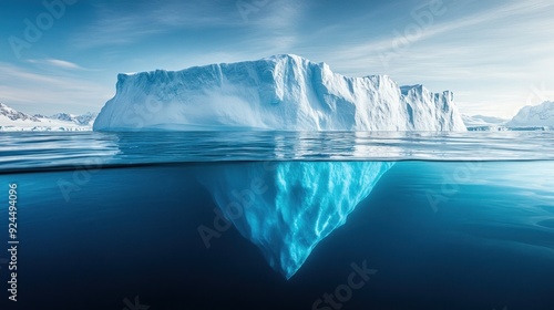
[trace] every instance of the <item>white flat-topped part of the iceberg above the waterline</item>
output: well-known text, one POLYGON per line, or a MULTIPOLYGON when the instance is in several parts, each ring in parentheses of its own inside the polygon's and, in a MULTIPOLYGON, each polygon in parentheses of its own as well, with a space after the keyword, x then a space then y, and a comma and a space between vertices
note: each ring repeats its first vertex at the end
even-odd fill
POLYGON ((120 74, 116 89, 94 130, 465 131, 451 92, 297 55, 120 74))

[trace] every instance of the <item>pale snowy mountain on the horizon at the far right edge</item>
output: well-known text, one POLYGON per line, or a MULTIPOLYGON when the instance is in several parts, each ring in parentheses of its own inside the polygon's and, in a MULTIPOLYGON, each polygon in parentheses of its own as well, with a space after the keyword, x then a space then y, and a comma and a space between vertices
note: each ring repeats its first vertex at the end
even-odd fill
POLYGON ((535 106, 524 106, 506 123, 511 127, 547 126, 554 127, 554 102, 546 101, 535 106))

